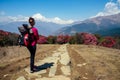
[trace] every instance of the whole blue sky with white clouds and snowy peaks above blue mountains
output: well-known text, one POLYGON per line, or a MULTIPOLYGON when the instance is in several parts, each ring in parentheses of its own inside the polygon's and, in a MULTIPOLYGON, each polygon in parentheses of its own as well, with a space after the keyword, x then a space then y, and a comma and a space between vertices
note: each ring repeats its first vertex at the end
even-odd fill
POLYGON ((71 24, 120 13, 120 0, 0 0, 0 22, 36 20, 71 24))

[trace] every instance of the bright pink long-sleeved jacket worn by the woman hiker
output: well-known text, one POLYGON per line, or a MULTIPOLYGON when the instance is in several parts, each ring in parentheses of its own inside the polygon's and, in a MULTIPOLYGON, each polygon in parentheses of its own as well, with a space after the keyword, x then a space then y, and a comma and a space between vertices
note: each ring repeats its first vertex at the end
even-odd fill
POLYGON ((39 39, 39 35, 38 35, 38 30, 37 28, 33 27, 32 28, 32 42, 31 42, 31 46, 34 46, 37 44, 37 40, 39 39))

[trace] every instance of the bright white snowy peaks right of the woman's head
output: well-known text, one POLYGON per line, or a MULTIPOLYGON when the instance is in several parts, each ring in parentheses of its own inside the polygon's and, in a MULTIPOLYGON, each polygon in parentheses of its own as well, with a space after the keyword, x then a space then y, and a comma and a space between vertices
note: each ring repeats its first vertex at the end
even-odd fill
POLYGON ((62 20, 59 17, 46 18, 45 16, 41 15, 40 13, 34 14, 32 17, 35 18, 36 20, 40 20, 40 21, 44 21, 44 22, 53 22, 56 24, 71 24, 74 22, 73 20, 62 20))

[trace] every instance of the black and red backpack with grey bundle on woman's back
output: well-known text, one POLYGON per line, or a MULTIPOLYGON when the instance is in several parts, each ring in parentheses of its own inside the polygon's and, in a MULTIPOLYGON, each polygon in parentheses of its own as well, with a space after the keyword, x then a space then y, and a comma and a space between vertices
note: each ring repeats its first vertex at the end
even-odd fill
POLYGON ((18 27, 20 35, 18 37, 18 44, 20 46, 29 46, 30 45, 30 33, 29 27, 27 24, 23 24, 22 27, 18 27))

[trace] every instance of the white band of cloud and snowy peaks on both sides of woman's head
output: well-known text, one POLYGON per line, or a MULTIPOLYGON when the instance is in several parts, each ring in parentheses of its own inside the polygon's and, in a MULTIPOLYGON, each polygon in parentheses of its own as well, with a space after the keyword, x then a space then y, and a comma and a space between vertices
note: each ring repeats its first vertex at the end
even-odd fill
MULTIPOLYGON (((2 13, 3 14, 3 13, 2 13)), ((43 21, 43 22, 53 22, 56 24, 71 24, 74 21, 73 20, 63 20, 60 19, 59 17, 55 17, 55 18, 46 18, 45 16, 43 16, 40 13, 36 13, 32 16, 33 18, 35 18, 35 20, 37 21, 43 21)), ((12 22, 12 21, 28 21, 29 17, 26 16, 22 16, 22 15, 18 15, 18 16, 1 16, 0 15, 0 22, 12 22)))

